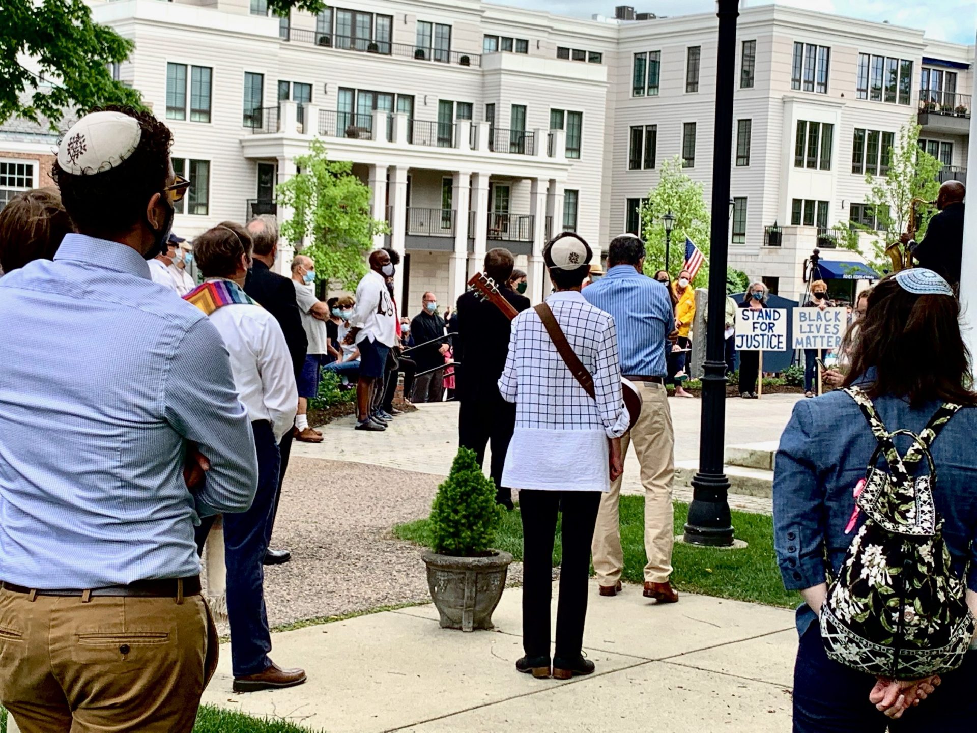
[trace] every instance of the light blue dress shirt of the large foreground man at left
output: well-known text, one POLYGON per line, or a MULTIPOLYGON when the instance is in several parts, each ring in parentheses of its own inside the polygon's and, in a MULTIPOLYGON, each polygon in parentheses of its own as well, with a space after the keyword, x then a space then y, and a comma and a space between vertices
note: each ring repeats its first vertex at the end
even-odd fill
POLYGON ((0 580, 94 588, 199 573, 198 514, 257 488, 217 329, 123 244, 68 235, 0 278, 0 580), (186 441, 210 460, 183 478, 186 441))

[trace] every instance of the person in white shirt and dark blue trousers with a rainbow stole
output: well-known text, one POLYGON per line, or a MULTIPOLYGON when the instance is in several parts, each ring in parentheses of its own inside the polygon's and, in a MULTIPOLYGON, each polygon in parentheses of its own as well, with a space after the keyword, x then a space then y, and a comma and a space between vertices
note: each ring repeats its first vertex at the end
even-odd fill
MULTIPOLYGON (((231 625, 234 692, 292 687, 305 682, 302 669, 282 669, 268 658, 272 635, 265 613, 264 560, 278 494, 281 437, 291 431, 298 392, 281 326, 243 290, 251 264, 251 237, 223 222, 193 242, 203 282, 185 296, 214 324, 231 354, 234 386, 247 409, 258 454, 258 492, 251 507, 223 519, 231 625)), ((196 528, 198 551, 213 517, 196 528)))

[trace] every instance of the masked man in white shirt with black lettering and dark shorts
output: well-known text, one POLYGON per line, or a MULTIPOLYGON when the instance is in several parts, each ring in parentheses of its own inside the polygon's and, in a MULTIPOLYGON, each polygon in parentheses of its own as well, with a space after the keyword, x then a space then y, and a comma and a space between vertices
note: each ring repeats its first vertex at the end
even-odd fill
POLYGON ((360 375, 357 379, 357 430, 386 430, 374 402, 377 389, 383 388, 387 357, 397 343, 397 312, 387 291, 387 278, 394 275, 394 263, 383 249, 369 254, 370 271, 357 285, 357 305, 350 317, 352 328, 343 343, 360 348, 360 375))

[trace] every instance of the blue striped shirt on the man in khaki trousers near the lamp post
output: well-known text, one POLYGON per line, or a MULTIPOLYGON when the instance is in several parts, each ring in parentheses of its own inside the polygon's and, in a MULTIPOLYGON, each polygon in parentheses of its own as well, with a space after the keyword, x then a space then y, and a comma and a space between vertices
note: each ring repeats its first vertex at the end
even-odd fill
POLYGON ((584 287, 583 297, 614 316, 622 374, 665 375, 665 344, 675 315, 663 284, 632 265, 616 265, 584 287))

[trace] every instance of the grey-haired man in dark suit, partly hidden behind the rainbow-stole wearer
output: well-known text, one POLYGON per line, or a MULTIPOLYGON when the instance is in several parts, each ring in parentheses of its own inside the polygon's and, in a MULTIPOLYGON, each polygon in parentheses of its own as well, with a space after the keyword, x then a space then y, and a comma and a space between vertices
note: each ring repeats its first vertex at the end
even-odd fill
MULTIPOLYGON (((305 328, 302 327, 302 315, 295 300, 295 286, 288 278, 272 272, 272 266, 275 264, 278 253, 278 223, 274 216, 262 214, 248 222, 247 231, 251 234, 254 242, 254 251, 251 269, 248 271, 247 280, 244 281, 244 292, 257 300, 261 307, 271 313, 278 325, 281 326, 281 331, 285 334, 285 343, 288 344, 292 367, 295 369, 295 378, 298 379, 302 373, 302 367, 305 365, 309 339, 306 336, 305 328)), ((266 533, 268 539, 272 538, 272 530, 275 528, 281 484, 285 479, 285 471, 288 469, 288 456, 292 452, 293 432, 292 430, 286 432, 281 443, 278 444, 278 452, 281 454, 278 470, 278 492, 275 496, 272 517, 268 523, 266 533)), ((265 555, 265 564, 279 565, 288 562, 291 557, 292 553, 287 549, 269 548, 265 555)))

